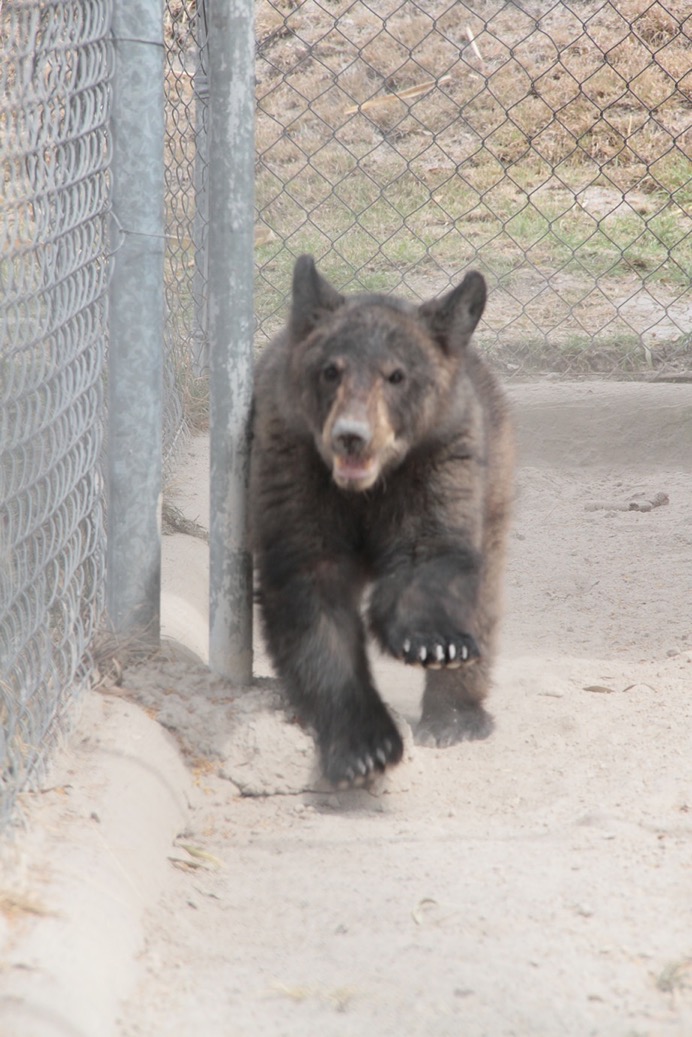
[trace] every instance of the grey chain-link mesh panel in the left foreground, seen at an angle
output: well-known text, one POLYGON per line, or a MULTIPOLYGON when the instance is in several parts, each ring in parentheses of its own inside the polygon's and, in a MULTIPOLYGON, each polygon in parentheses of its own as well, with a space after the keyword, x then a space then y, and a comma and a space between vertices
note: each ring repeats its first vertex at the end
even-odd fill
POLYGON ((0 826, 103 604, 110 9, 0 3, 0 826))

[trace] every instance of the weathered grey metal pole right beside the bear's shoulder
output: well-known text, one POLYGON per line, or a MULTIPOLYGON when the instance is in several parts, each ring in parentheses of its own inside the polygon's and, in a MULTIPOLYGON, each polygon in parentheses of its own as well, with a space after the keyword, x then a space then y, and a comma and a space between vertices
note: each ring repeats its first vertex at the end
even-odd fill
POLYGON ((209 0, 210 667, 252 676, 247 543, 254 313, 253 0, 209 0))

